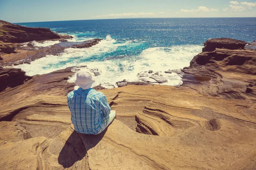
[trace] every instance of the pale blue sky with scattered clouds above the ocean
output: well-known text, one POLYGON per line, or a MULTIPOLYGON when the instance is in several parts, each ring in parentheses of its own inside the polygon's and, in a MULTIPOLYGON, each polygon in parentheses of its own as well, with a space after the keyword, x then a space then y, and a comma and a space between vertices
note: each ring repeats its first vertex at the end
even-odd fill
POLYGON ((256 17, 256 0, 0 0, 11 23, 172 17, 256 17))

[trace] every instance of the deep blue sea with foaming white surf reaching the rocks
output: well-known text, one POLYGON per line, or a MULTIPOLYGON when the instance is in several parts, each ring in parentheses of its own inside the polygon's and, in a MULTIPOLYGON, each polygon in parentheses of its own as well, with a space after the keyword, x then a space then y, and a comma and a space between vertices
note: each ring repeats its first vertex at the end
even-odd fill
MULTIPOLYGON (((167 71, 189 66, 209 38, 229 37, 251 42, 256 40, 256 18, 146 18, 112 20, 75 20, 17 23, 28 27, 50 28, 69 34, 69 41, 103 38, 91 48, 67 48, 59 56, 47 56, 30 65, 18 65, 28 75, 44 74, 69 66, 99 68, 99 83, 128 79, 138 80, 137 73, 167 71)), ((35 46, 58 43, 35 42, 35 46)), ((180 75, 164 74, 166 85, 180 85, 180 75)))

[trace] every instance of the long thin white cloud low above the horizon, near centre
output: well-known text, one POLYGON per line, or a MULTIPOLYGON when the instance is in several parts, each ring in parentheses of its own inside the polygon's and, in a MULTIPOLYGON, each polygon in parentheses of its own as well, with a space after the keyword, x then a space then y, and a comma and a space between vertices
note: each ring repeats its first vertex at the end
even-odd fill
POLYGON ((150 17, 156 15, 153 12, 139 12, 139 13, 122 13, 122 14, 106 14, 106 15, 98 15, 98 18, 127 18, 127 17, 150 17))

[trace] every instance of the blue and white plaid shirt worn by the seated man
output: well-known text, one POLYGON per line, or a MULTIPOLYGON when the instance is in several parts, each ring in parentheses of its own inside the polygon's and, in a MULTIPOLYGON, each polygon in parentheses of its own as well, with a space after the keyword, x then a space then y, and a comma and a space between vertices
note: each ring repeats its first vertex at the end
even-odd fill
POLYGON ((84 134, 98 133, 102 129, 102 120, 111 111, 106 96, 93 88, 70 92, 67 104, 75 130, 84 134))

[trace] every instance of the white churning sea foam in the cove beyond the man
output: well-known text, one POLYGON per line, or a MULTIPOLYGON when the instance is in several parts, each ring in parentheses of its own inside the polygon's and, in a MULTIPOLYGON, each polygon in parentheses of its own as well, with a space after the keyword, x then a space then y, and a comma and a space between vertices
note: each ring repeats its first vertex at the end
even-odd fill
MULTIPOLYGON (((108 37, 108 36, 107 36, 108 37)), ((88 68, 98 68, 102 74, 96 78, 93 85, 115 82, 128 79, 128 81, 139 81, 137 73, 153 70, 161 72, 168 79, 164 85, 182 84, 180 75, 176 73, 166 74, 169 69, 179 69, 189 66, 191 59, 201 52, 200 45, 175 45, 172 47, 147 48, 138 56, 129 56, 121 59, 97 60, 97 56, 116 51, 119 46, 136 45, 140 42, 127 41, 116 43, 116 40, 107 38, 91 48, 67 48, 60 56, 48 55, 31 62, 30 65, 23 64, 14 66, 26 71, 27 75, 45 74, 70 66, 87 65, 88 68), (81 62, 81 59, 92 58, 95 61, 81 62), (96 57, 96 58, 95 58, 96 57)), ((70 79, 74 82, 75 77, 70 79)))

